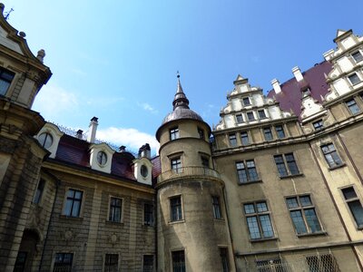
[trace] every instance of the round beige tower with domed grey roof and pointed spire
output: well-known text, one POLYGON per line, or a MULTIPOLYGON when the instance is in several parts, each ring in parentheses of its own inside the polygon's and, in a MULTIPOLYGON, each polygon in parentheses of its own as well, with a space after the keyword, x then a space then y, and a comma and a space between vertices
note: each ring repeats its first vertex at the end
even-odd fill
POLYGON ((173 111, 156 131, 158 271, 231 271, 224 184, 214 170, 210 126, 189 108, 178 75, 173 111))

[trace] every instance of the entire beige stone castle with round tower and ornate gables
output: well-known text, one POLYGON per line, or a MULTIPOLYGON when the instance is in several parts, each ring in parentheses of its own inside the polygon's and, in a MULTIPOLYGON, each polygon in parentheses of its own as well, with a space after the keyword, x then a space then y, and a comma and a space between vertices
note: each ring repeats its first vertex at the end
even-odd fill
POLYGON ((238 75, 213 128, 178 76, 159 155, 32 110, 52 73, 0 5, 1 271, 362 271, 363 38, 264 95, 238 75))

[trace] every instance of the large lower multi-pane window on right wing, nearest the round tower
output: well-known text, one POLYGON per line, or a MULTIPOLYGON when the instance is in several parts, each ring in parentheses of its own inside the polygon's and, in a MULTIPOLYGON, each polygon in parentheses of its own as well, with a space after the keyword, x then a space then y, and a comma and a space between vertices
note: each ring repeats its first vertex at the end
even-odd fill
POLYGON ((270 211, 266 201, 243 205, 251 239, 273 238, 270 211))

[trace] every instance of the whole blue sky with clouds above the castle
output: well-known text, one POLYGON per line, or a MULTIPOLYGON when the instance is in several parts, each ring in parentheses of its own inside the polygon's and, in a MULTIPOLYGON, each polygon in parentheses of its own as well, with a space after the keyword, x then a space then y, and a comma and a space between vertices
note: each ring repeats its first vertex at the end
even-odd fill
POLYGON ((191 109, 219 122, 240 73, 264 92, 323 61, 337 29, 363 34, 363 1, 5 1, 9 23, 53 76, 34 111, 136 151, 172 111, 176 72, 191 109), (342 5, 343 4, 343 5, 342 5))

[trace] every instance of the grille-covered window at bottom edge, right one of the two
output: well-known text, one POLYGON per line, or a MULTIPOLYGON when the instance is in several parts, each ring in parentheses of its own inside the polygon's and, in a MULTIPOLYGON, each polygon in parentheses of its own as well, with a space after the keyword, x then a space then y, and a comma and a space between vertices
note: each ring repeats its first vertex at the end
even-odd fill
POLYGON ((332 254, 306 256, 305 259, 310 272, 340 272, 338 263, 332 254))

